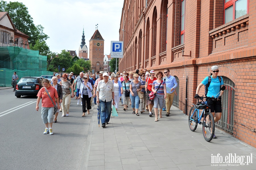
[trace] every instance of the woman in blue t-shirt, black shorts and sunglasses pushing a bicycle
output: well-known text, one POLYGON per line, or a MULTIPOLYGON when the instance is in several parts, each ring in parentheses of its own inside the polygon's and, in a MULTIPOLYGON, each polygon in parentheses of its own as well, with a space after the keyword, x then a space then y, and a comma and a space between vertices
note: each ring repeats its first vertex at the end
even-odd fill
MULTIPOLYGON (((200 88, 203 85, 208 85, 209 78, 211 78, 206 96, 209 97, 207 99, 208 108, 212 113, 212 116, 214 117, 215 115, 214 122, 217 122, 221 118, 221 113, 222 113, 221 96, 224 92, 224 91, 220 91, 220 88, 224 86, 224 82, 222 77, 218 76, 218 73, 219 73, 218 66, 212 66, 210 76, 205 77, 205 79, 198 85, 196 95, 195 95, 195 98, 200 97, 198 95, 200 88), (212 100, 212 96, 215 98, 218 94, 219 96, 216 98, 216 100, 212 100)), ((213 135, 213 138, 215 139, 216 136, 213 135)))

